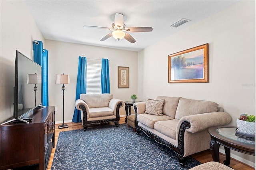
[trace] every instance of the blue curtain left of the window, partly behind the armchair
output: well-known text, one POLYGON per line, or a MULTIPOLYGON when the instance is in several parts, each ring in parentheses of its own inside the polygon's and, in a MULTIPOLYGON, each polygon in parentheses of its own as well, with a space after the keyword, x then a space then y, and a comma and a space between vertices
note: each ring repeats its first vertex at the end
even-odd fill
MULTIPOLYGON (((86 57, 78 59, 78 73, 76 81, 76 100, 80 99, 80 94, 86 94, 86 57)), ((75 107, 72 122, 78 123, 81 121, 81 114, 75 107)))

